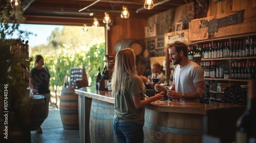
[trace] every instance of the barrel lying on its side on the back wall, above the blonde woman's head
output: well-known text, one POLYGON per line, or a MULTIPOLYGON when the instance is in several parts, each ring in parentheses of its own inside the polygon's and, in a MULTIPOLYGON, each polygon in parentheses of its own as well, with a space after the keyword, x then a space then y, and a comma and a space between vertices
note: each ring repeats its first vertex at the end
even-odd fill
POLYGON ((140 42, 132 39, 120 40, 115 44, 114 51, 117 53, 121 49, 130 47, 134 50, 136 56, 140 55, 143 52, 143 47, 140 42))

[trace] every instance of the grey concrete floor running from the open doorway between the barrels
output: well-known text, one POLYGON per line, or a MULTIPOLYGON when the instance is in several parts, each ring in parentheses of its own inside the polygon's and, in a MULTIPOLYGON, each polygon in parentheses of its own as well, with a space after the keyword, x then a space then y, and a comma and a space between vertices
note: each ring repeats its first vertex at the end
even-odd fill
POLYGON ((42 134, 31 131, 31 143, 79 143, 79 130, 64 130, 61 122, 59 99, 51 99, 52 106, 49 106, 49 114, 42 123, 42 134), (57 102, 56 102, 57 100, 57 102), (57 106, 56 106, 57 105, 57 106))

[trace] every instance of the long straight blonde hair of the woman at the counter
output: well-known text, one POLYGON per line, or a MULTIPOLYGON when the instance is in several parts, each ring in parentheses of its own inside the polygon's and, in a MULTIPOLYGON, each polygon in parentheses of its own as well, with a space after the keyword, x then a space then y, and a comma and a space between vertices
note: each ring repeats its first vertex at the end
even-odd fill
MULTIPOLYGON (((132 49, 126 48, 117 52, 111 80, 111 88, 113 93, 121 93, 121 91, 125 88, 125 77, 127 75, 130 77, 130 79, 132 76, 140 78, 137 74, 135 61, 136 56, 132 49)), ((142 80, 140 80, 140 85, 143 90, 144 84, 142 80)))

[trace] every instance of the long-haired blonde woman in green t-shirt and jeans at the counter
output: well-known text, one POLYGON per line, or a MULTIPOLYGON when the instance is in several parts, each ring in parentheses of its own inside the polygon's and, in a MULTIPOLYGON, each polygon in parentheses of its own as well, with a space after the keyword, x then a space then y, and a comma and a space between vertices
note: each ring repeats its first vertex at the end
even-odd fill
POLYGON ((163 99, 163 93, 144 100, 145 86, 137 74, 136 56, 132 49, 122 49, 116 54, 112 76, 115 94, 113 131, 118 142, 143 142, 144 107, 163 99))

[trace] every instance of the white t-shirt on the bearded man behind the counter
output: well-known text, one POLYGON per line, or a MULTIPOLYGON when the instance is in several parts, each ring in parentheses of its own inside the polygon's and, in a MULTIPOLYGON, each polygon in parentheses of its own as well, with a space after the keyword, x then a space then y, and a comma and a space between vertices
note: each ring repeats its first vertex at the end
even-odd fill
MULTIPOLYGON (((197 90, 194 83, 204 81, 204 70, 197 63, 191 61, 184 67, 178 65, 174 70, 175 91, 178 93, 190 93, 197 90)), ((198 102, 197 100, 185 100, 198 102)))

